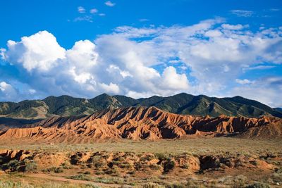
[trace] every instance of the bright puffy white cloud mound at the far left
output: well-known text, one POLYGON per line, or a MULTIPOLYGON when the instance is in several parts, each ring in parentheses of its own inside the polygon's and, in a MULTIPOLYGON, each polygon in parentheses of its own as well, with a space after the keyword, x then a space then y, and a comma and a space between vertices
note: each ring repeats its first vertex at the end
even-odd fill
POLYGON ((20 42, 9 40, 4 59, 16 65, 23 65, 28 71, 38 69, 48 71, 65 58, 65 49, 47 31, 37 32, 30 37, 22 37, 20 42))

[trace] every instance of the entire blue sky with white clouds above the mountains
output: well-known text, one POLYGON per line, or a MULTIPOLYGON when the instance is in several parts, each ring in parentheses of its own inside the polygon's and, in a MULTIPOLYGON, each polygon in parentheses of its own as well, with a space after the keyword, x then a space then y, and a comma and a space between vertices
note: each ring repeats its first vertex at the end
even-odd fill
POLYGON ((282 107, 282 1, 10 0, 0 101, 185 92, 282 107))

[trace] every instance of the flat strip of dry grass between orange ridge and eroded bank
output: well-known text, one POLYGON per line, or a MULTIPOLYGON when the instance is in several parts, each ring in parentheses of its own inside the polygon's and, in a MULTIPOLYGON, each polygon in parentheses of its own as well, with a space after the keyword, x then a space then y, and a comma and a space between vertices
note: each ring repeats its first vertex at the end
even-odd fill
POLYGON ((0 149, 25 149, 39 151, 124 151, 134 153, 191 153, 191 154, 220 154, 220 153, 281 153, 282 140, 257 140, 238 138, 211 139, 176 139, 150 141, 120 140, 91 144, 19 144, 7 145, 0 143, 0 149))

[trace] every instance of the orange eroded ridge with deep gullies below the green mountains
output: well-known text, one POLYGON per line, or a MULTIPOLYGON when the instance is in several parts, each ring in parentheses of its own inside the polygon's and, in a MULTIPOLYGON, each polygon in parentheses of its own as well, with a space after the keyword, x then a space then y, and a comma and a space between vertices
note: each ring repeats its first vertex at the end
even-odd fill
POLYGON ((90 142, 104 139, 176 139, 184 135, 281 137, 282 120, 274 117, 216 118, 167 113, 155 107, 104 110, 92 115, 53 117, 20 129, 2 132, 0 139, 30 138, 54 142, 90 142), (269 132, 268 133, 266 133, 269 132))

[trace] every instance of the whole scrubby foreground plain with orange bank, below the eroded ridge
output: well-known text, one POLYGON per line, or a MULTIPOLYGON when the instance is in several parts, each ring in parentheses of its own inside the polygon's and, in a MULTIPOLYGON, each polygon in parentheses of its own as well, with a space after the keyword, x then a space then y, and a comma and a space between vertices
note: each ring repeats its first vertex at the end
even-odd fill
POLYGON ((280 187, 282 142, 0 143, 0 187, 280 187))

